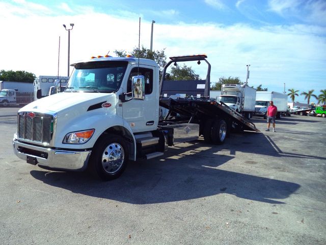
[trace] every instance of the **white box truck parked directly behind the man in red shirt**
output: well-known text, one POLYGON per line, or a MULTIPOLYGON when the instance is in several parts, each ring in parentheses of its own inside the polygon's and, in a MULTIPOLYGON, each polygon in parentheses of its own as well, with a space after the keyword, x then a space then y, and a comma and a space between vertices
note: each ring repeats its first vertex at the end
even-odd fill
POLYGON ((267 108, 270 101, 273 101, 274 105, 277 107, 277 118, 285 115, 290 115, 287 110, 287 94, 274 91, 256 92, 255 115, 263 116, 266 118, 267 108))

